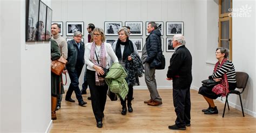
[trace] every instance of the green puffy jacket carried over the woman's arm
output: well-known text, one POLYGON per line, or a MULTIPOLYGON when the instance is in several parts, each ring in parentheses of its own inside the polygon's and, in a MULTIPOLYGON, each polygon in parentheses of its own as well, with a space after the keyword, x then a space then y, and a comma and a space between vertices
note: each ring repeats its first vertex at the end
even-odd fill
POLYGON ((128 85, 125 80, 127 73, 125 72, 122 65, 115 62, 112 64, 109 72, 107 73, 105 80, 107 85, 109 85, 110 91, 116 93, 123 100, 128 94, 128 85))

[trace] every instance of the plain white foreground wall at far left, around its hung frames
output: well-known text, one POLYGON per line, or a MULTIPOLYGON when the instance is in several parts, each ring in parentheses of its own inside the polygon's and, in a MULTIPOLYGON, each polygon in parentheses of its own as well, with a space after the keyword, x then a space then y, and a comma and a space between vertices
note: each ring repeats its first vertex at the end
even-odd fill
POLYGON ((0 132, 46 132, 51 125, 50 43, 25 42, 25 0, 0 2, 0 132))

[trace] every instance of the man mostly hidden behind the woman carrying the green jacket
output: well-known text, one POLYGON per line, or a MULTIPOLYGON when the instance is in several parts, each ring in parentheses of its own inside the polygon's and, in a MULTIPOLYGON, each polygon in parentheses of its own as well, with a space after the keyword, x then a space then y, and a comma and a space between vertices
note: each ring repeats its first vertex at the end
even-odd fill
MULTIPOLYGON (((95 25, 94 24, 88 24, 87 26, 87 31, 88 31, 88 43, 91 42, 91 36, 92 36, 92 31, 93 29, 95 28, 95 25)), ((88 83, 86 81, 86 67, 87 65, 85 64, 85 71, 84 71, 84 83, 82 85, 82 90, 81 90, 81 93, 82 94, 86 94, 86 89, 88 88, 88 83)), ((91 100, 91 97, 88 97, 87 98, 88 100, 91 100)))

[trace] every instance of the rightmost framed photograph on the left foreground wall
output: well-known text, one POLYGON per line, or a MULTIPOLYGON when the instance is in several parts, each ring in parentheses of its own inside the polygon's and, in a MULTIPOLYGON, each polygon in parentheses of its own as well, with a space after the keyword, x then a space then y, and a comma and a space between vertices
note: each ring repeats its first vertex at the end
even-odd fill
POLYGON ((45 41, 50 41, 51 39, 51 23, 52 23, 52 10, 47 6, 46 13, 46 25, 45 25, 45 41))

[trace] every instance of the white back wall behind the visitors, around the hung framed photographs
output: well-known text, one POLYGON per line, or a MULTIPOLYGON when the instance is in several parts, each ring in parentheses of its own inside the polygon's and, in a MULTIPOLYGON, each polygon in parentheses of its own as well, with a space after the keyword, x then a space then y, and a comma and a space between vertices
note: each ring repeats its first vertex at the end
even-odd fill
MULTIPOLYGON (((146 21, 163 21, 164 22, 164 55, 166 58, 166 68, 164 70, 156 70, 156 78, 158 88, 171 88, 172 82, 166 80, 167 67, 170 64, 170 58, 173 52, 166 52, 166 21, 184 21, 184 35, 186 44, 193 54, 193 36, 194 36, 194 14, 193 1, 191 0, 57 0, 51 2, 53 9, 52 21, 63 21, 63 37, 66 36, 66 21, 84 21, 84 40, 87 42, 86 27, 89 23, 95 24, 96 27, 104 29, 104 21, 143 21, 143 36, 131 36, 131 38, 143 38, 143 46, 146 41, 146 21)), ((118 38, 118 36, 107 36, 109 38, 118 38)), ((142 53, 139 52, 139 55, 142 53)), ((85 68, 84 68, 85 69, 85 68)), ((79 78, 80 86, 83 83, 83 75, 79 78)), ((69 86, 70 80, 68 78, 69 86)), ((140 78, 140 86, 135 88, 146 88, 144 77, 140 78)))

